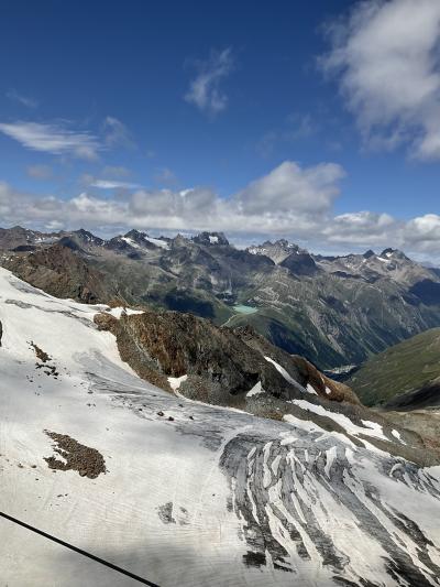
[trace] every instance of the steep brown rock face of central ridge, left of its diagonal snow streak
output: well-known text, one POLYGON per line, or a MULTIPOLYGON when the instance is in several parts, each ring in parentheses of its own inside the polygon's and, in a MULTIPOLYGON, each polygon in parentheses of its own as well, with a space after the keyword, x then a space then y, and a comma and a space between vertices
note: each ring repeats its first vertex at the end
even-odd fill
MULTIPOLYGON (((194 378, 193 394, 204 394, 205 401, 209 401, 206 394, 245 395, 258 381, 275 396, 296 396, 295 387, 232 330, 194 315, 146 311, 120 320, 98 317, 97 323, 117 336, 121 357, 139 374, 156 372, 156 379, 186 374, 194 378)), ((151 374, 146 379, 152 381, 151 374)))

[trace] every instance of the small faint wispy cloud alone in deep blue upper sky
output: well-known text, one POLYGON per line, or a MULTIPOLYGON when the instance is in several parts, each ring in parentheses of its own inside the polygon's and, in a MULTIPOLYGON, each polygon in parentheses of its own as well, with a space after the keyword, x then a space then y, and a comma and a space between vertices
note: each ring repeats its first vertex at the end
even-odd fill
POLYGON ((185 100, 197 106, 202 112, 217 115, 228 106, 228 96, 220 88, 220 83, 233 69, 232 50, 212 52, 206 62, 197 64, 199 73, 189 84, 185 100))

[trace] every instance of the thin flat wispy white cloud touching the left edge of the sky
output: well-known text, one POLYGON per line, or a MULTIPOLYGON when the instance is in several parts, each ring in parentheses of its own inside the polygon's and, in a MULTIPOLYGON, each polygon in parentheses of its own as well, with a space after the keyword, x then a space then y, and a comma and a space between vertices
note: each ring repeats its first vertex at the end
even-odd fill
POLYGON ((0 123, 0 132, 23 146, 53 155, 70 155, 95 160, 102 148, 98 139, 87 131, 73 131, 56 123, 11 122, 0 123))

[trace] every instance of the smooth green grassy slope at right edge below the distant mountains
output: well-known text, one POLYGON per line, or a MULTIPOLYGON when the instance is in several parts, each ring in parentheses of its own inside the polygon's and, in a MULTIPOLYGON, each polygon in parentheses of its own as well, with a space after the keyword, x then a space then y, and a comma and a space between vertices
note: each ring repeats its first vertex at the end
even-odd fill
POLYGON ((440 328, 376 355, 348 384, 366 405, 396 410, 440 406, 440 328))

